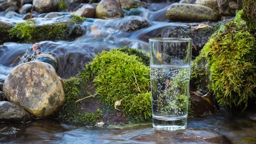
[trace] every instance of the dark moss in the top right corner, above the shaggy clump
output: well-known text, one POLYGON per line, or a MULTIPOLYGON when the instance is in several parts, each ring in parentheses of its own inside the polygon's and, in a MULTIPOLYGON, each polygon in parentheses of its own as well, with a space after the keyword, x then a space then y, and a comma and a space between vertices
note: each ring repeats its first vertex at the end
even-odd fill
POLYGON ((245 20, 248 28, 255 34, 256 32, 256 1, 243 0, 243 11, 240 11, 241 17, 245 20))

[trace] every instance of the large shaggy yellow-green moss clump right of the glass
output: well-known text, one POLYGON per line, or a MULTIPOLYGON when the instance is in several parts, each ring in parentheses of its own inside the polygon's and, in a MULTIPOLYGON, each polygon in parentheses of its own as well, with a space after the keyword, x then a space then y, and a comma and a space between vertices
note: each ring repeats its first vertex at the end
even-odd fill
POLYGON ((192 71, 191 77, 201 78, 199 83, 204 82, 202 78, 207 77, 209 70, 211 84, 208 88, 214 91, 220 106, 245 109, 248 101, 255 97, 255 56, 255 38, 237 14, 233 21, 224 24, 210 37, 192 66, 198 72, 192 71), (197 68, 204 59, 207 59, 207 68, 197 68))

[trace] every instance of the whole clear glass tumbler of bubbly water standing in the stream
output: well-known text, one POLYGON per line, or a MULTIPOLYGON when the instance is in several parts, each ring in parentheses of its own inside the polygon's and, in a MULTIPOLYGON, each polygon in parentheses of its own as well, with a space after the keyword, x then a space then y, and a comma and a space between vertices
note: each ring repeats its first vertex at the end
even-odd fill
POLYGON ((150 38, 149 48, 153 127, 185 129, 192 39, 150 38))

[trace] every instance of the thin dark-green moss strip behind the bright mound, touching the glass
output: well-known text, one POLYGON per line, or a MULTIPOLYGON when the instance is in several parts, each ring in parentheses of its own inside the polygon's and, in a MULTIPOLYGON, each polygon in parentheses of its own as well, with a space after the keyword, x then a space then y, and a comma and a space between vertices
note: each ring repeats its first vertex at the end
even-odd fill
POLYGON ((136 48, 130 48, 130 47, 121 47, 121 48, 118 48, 118 50, 124 52, 124 53, 127 53, 128 55, 136 55, 138 56, 139 58, 141 59, 138 59, 138 60, 142 60, 140 62, 143 62, 146 66, 149 66, 149 57, 145 54, 145 51, 142 51, 142 49, 140 51, 138 51, 136 48))

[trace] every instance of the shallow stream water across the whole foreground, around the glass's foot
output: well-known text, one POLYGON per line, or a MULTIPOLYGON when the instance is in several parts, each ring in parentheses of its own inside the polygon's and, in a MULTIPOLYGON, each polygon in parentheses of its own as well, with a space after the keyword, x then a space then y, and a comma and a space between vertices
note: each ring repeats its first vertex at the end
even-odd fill
POLYGON ((1 124, 16 128, 15 134, 0 134, 0 143, 242 143, 256 138, 256 121, 227 117, 224 114, 188 119, 181 131, 159 131, 152 123, 140 126, 83 126, 41 119, 30 124, 1 124))

